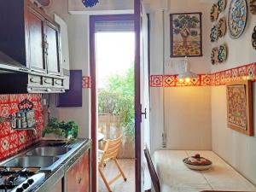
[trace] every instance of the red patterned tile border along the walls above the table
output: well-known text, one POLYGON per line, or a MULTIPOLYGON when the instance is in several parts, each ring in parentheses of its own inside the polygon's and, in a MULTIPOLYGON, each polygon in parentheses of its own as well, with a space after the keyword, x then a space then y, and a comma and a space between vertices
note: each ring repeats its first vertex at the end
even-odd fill
POLYGON ((218 86, 230 81, 251 79, 256 81, 256 62, 241 67, 230 68, 212 74, 199 74, 196 79, 177 79, 177 75, 151 75, 151 87, 181 87, 181 86, 218 86))

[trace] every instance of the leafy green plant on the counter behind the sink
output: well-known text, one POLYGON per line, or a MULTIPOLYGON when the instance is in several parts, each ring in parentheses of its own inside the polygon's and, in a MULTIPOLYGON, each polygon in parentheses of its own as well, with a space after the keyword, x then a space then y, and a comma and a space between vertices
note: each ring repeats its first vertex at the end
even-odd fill
POLYGON ((42 131, 42 136, 44 137, 48 133, 54 133, 60 137, 68 137, 72 135, 74 138, 77 138, 79 135, 79 125, 74 121, 59 121, 56 118, 49 119, 48 125, 42 131))

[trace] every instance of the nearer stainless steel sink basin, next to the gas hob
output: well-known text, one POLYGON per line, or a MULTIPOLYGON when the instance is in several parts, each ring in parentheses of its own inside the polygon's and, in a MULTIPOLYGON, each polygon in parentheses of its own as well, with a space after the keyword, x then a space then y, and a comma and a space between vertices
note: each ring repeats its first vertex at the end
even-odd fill
POLYGON ((2 166, 46 168, 52 166, 57 160, 59 160, 58 157, 20 156, 6 162, 2 166))

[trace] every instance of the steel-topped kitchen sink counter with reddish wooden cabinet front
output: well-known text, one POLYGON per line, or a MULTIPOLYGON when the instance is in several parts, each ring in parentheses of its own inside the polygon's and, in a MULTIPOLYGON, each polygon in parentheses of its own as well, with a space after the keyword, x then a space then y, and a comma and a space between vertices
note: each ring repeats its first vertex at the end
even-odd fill
MULTIPOLYGON (((45 177, 44 181, 32 186, 32 189, 28 190, 29 192, 69 192, 69 191, 90 191, 90 148, 91 141, 90 139, 76 139, 70 143, 52 143, 49 141, 41 141, 31 148, 27 148, 25 151, 16 154, 13 157, 10 157, 7 160, 1 162, 0 166, 20 166, 20 164, 16 164, 15 159, 19 158, 36 158, 35 160, 31 160, 27 162, 29 165, 39 166, 44 165, 44 159, 41 158, 55 158, 56 160, 50 164, 50 166, 40 166, 43 167, 38 172, 44 172, 45 177), (48 148, 54 147, 54 148, 48 148), (43 149, 44 150, 43 150, 43 149), (55 150, 66 148, 64 154, 55 154, 55 150), (39 150, 38 150, 39 149, 39 150), (48 149, 48 151, 47 151, 48 149), (40 151, 41 150, 41 151, 40 151), (33 153, 41 153, 41 155, 33 154, 33 153), (44 152, 48 154, 44 154, 44 152), (50 154, 50 155, 49 155, 50 154), (48 155, 48 156, 47 156, 48 155), (85 158, 85 159, 84 159, 85 158), (41 159, 41 160, 40 160, 41 159), (14 163, 12 163, 14 161, 14 163), (43 164, 42 164, 43 163, 43 164), (81 168, 78 168, 81 167, 81 168), (83 168, 86 170, 83 170, 83 168), (75 169, 74 169, 75 168, 75 169), (71 172, 70 172, 71 170, 71 172), (77 174, 77 172, 79 174, 77 174), (87 172, 87 173, 86 173, 87 172), (73 177, 79 177, 79 180, 72 181, 73 177), (71 182, 67 182, 67 177, 71 182), (73 186, 76 188, 76 183, 78 182, 79 189, 73 189, 73 186)), ((24 164, 26 165, 26 163, 24 164)), ((27 166, 27 167, 33 167, 27 166)), ((21 166, 26 167, 26 166, 21 166)), ((77 179, 77 178, 75 178, 77 179)))

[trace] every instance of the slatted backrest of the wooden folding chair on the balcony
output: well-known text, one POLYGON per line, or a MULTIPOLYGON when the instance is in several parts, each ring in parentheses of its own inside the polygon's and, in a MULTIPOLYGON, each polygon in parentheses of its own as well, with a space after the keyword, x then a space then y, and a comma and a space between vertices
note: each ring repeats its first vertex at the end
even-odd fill
POLYGON ((103 150, 102 160, 99 166, 102 166, 106 160, 116 159, 122 143, 122 138, 123 136, 120 136, 113 140, 107 140, 107 143, 105 144, 105 148, 103 150))

